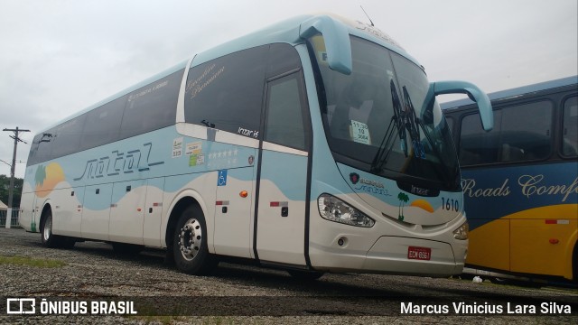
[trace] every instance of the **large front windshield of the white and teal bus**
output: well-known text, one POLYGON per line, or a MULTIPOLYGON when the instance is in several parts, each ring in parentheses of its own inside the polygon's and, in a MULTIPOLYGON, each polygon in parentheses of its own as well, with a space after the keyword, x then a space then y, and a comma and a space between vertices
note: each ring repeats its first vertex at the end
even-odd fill
POLYGON ((429 82, 414 62, 350 36, 350 75, 326 64, 321 35, 311 38, 319 67, 322 119, 339 163, 435 190, 460 190, 452 137, 429 82))

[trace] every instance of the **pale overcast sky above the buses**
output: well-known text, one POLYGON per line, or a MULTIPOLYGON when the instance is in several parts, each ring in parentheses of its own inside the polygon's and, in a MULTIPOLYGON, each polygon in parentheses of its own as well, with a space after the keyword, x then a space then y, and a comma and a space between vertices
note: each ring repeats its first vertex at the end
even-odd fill
MULTIPOLYGON (((213 45, 297 14, 373 23, 430 81, 486 92, 578 74, 576 0, 0 0, 0 129, 33 135, 213 45)), ((443 100, 442 100, 443 101, 443 100)), ((12 162, 12 133, 0 160, 12 162)), ((0 162, 0 174, 10 168, 0 162)))

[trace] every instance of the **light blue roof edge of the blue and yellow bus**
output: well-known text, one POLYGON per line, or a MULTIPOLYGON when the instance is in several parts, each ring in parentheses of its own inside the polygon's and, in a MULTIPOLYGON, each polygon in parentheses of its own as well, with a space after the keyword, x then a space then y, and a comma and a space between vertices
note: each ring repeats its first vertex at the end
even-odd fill
MULTIPOLYGON (((522 95, 535 93, 537 91, 542 91, 546 89, 561 88, 571 85, 578 84, 578 76, 566 77, 562 79, 554 79, 550 81, 540 82, 533 85, 522 86, 518 88, 511 88, 506 90, 500 90, 488 94, 489 100, 505 100, 510 98, 517 98, 522 95)), ((457 107, 463 107, 466 105, 471 105, 474 102, 470 98, 463 98, 458 100, 453 100, 451 102, 441 104, 442 109, 451 109, 457 107)))

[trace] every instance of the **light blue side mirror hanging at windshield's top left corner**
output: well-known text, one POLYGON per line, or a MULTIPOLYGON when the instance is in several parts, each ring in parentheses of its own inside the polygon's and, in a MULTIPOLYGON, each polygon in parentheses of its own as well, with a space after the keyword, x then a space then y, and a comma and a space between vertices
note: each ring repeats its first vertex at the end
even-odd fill
POLYGON ((303 39, 312 37, 321 32, 327 51, 327 63, 331 70, 336 70, 346 75, 351 74, 351 42, 347 27, 328 15, 312 17, 299 28, 299 36, 303 39))

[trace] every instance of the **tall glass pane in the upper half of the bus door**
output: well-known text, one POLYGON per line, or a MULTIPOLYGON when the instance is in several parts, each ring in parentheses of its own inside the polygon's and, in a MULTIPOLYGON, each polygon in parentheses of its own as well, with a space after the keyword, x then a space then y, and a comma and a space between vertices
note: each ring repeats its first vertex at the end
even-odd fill
POLYGON ((299 74, 269 83, 265 140, 306 150, 299 74))

